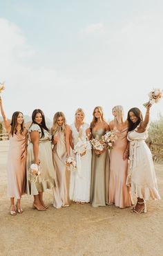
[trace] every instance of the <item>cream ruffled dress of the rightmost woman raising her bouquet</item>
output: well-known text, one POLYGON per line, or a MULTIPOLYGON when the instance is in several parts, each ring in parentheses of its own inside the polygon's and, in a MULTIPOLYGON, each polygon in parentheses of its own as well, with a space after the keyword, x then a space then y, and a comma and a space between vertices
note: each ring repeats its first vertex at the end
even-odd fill
POLYGON ((145 143, 147 131, 138 133, 138 127, 127 137, 130 141, 130 164, 126 185, 131 185, 131 191, 141 199, 160 199, 152 154, 145 143))

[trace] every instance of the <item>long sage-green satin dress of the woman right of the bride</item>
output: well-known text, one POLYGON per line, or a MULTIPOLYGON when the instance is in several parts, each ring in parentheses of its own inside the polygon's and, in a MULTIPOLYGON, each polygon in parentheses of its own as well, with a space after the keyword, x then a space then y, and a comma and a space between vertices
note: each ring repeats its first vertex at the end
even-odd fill
MULTIPOLYGON (((99 139, 105 134, 104 129, 92 131, 93 138, 99 139)), ((108 150, 99 157, 93 150, 92 172, 90 185, 90 203, 93 207, 106 206, 108 204, 108 185, 109 185, 109 153, 108 150)))

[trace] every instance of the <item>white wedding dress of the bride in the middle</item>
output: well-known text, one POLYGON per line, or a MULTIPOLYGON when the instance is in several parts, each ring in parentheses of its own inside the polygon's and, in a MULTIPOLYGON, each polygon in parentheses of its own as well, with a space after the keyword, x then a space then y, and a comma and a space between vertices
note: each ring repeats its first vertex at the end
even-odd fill
MULTIPOLYGON (((74 146, 77 144, 79 138, 86 140, 86 129, 88 127, 89 125, 84 123, 78 132, 75 124, 70 125, 74 146)), ((90 201, 91 158, 91 149, 87 150, 84 156, 77 157, 77 170, 70 174, 70 199, 75 202, 88 203, 90 201)))

